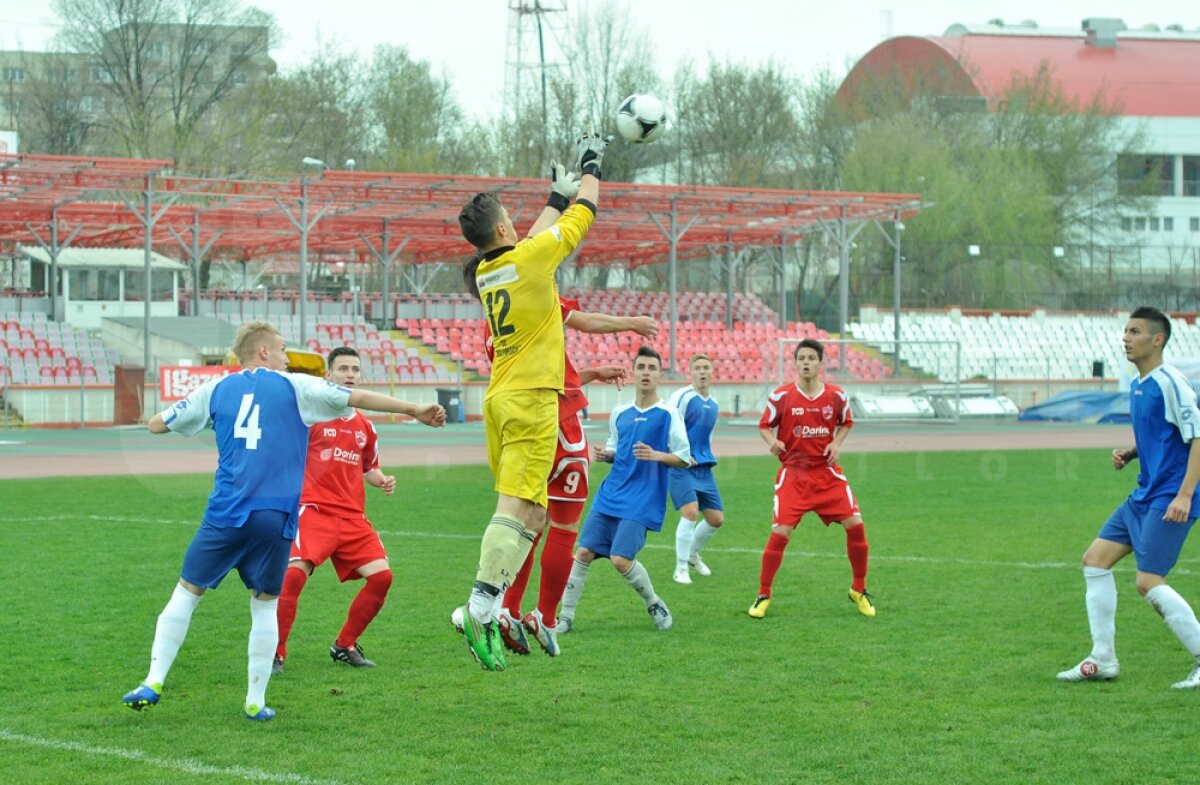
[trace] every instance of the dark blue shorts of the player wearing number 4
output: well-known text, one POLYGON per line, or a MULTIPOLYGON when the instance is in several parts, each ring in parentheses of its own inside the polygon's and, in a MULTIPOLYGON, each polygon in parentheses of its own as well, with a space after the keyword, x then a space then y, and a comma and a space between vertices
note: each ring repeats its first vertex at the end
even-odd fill
POLYGON ((292 552, 292 538, 283 535, 287 522, 282 510, 254 510, 238 527, 204 521, 184 553, 180 576, 209 589, 235 569, 246 588, 278 595, 292 552))

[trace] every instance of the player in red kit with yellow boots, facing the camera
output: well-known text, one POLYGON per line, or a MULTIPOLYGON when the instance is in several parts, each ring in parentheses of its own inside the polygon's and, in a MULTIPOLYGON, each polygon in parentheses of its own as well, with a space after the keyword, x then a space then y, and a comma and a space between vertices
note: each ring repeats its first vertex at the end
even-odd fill
POLYGON ((758 597, 750 616, 762 618, 770 605, 770 585, 784 561, 784 549, 805 513, 816 513, 826 526, 846 529, 846 556, 853 582, 850 599, 863 616, 875 616, 866 591, 866 527, 858 502, 838 466, 841 444, 854 421, 845 390, 821 382, 824 347, 805 338, 793 354, 796 383, 785 384, 767 399, 758 433, 782 466, 775 475, 775 514, 770 538, 762 552, 758 597))

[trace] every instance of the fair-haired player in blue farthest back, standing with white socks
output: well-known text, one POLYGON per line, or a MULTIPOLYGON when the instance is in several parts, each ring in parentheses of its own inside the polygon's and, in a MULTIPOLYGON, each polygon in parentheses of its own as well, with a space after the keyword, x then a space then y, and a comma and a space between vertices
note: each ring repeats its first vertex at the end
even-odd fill
POLYGON ((683 415, 691 445, 691 466, 671 469, 668 473, 671 503, 679 510, 676 526, 676 583, 691 583, 688 567, 696 568, 696 575, 708 576, 713 571, 700 558, 700 551, 716 534, 725 522, 721 492, 713 478, 716 457, 713 455, 713 429, 720 415, 720 406, 708 394, 713 383, 713 360, 707 354, 694 354, 688 361, 691 384, 676 390, 667 401, 683 415), (701 514, 704 520, 698 521, 701 514))

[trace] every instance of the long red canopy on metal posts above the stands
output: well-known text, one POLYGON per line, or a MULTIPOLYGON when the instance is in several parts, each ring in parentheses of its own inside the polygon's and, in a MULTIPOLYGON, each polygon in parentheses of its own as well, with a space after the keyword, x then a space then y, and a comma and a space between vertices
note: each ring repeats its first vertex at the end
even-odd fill
MULTIPOLYGON (((436 262, 466 256, 458 210, 496 191, 528 224, 542 180, 325 170, 290 179, 176 174, 168 161, 0 155, 0 247, 144 247, 227 260, 294 258, 436 262)), ((606 182, 578 259, 637 266, 712 252, 779 246, 838 223, 898 221, 907 193, 775 191, 606 182)), ((836 234, 836 230, 833 230, 836 234)))

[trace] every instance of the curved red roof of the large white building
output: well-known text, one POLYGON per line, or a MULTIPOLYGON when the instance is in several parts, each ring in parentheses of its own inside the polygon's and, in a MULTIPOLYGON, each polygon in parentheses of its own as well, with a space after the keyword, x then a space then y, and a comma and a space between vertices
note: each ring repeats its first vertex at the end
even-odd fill
MULTIPOLYGON (((1067 97, 1087 106, 1103 96, 1122 116, 1200 118, 1200 34, 1126 30, 1120 19, 1085 19, 1081 30, 1033 23, 953 25, 943 36, 899 36, 868 52, 839 89, 851 98, 895 74, 937 84, 941 95, 994 106, 1015 74, 1048 65, 1067 97)), ((922 89, 916 84, 911 86, 922 89)))

